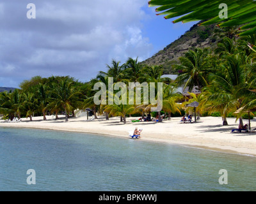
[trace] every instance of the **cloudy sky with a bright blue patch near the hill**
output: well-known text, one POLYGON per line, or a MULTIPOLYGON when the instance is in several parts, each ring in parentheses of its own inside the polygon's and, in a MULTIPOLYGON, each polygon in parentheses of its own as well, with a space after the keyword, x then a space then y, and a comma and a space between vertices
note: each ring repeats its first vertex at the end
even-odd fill
POLYGON ((89 81, 112 59, 151 57, 196 23, 173 24, 147 0, 2 0, 0 19, 0 86, 6 87, 38 75, 89 81), (35 19, 27 17, 29 3, 35 19))

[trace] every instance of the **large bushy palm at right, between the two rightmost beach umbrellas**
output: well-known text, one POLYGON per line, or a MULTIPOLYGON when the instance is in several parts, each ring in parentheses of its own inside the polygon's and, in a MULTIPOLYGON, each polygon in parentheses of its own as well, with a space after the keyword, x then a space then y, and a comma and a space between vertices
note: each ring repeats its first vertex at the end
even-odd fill
MULTIPOLYGON (((208 101, 212 103, 209 110, 220 111, 223 125, 227 125, 225 117, 243 105, 248 89, 247 73, 241 63, 239 54, 229 55, 220 66, 220 70, 210 74, 211 84, 206 88, 208 101)), ((243 120, 239 120, 240 123, 243 120)))

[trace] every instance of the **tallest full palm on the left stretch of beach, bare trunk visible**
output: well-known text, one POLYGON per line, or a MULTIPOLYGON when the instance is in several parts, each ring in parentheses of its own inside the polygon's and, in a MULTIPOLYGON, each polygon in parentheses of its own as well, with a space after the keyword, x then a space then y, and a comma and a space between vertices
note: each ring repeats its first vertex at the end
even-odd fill
POLYGON ((51 93, 53 97, 49 106, 61 106, 65 110, 65 121, 68 122, 68 113, 75 108, 72 101, 78 99, 81 93, 77 91, 77 87, 74 87, 73 81, 67 77, 61 79, 60 83, 55 83, 51 93))

